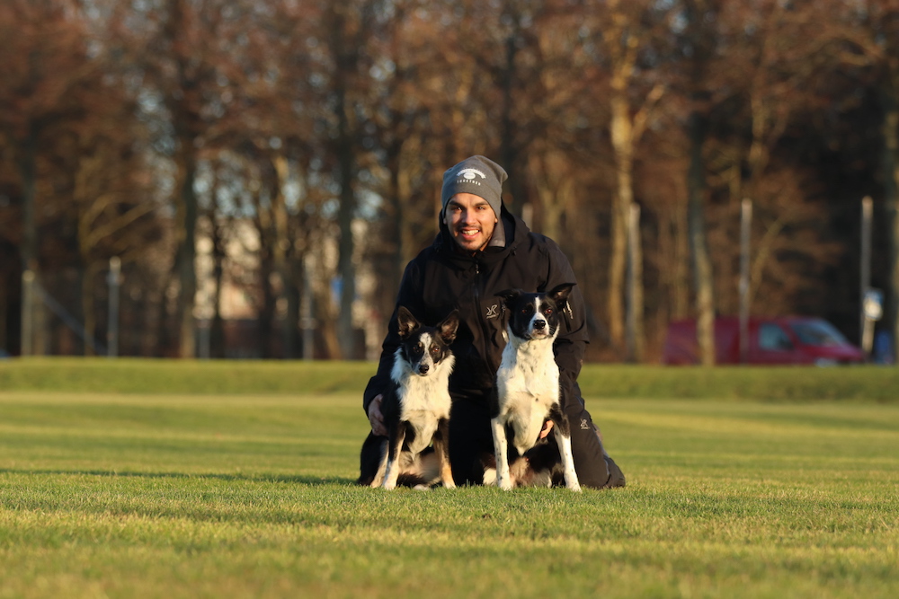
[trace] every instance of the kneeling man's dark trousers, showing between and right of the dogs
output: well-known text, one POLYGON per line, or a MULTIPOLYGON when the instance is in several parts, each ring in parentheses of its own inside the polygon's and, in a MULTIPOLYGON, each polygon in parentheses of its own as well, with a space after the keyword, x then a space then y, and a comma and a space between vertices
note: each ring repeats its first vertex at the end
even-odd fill
MULTIPOLYGON (((490 430, 490 408, 482 393, 452 393, 449 414, 449 461, 457 485, 483 482, 484 454, 494 453, 494 437, 490 430)), ((602 447, 600 437, 583 400, 572 401, 565 410, 571 427, 571 450, 574 470, 582 487, 601 489, 624 486, 624 475, 602 447)))

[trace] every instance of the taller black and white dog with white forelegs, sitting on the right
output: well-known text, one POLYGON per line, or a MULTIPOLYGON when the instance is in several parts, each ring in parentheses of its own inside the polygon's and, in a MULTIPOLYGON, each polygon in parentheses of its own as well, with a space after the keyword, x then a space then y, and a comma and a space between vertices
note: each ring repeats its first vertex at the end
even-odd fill
MULTIPOLYGON (((536 484, 552 485, 561 462, 565 486, 581 490, 571 453, 571 429, 559 403, 559 369, 553 353, 559 319, 574 286, 565 283, 547 293, 511 289, 498 294, 509 312, 508 342, 496 373, 496 395, 490 425, 494 436, 496 485, 501 489, 536 484), (552 420, 557 445, 539 439, 552 420), (509 466, 509 443, 517 451, 509 466), (528 452, 535 445, 533 459, 528 452)), ((489 483, 490 473, 485 473, 489 483)))

